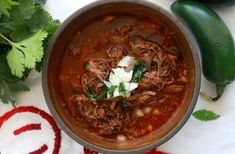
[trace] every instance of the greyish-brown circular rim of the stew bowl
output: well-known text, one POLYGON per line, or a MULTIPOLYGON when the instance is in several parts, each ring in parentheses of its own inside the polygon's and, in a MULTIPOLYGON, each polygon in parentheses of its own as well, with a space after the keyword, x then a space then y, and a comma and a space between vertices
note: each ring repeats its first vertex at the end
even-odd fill
POLYGON ((43 87, 43 94, 47 103, 47 106, 52 114, 52 116, 54 117, 56 123, 60 126, 60 128, 68 135, 70 136, 74 141, 76 141, 79 144, 82 144, 83 146, 94 150, 94 151, 98 151, 98 152, 102 152, 102 153, 113 153, 113 154, 120 154, 120 153, 130 153, 130 154, 136 154, 136 153, 142 153, 145 152, 147 150, 151 150, 155 147, 158 147, 159 145, 167 142, 170 138, 172 138, 186 123, 186 121, 189 119, 191 113, 193 112, 193 109, 196 105, 197 99, 198 99, 198 95, 199 95, 199 90, 200 90, 200 83, 201 83, 201 67, 200 67, 200 59, 197 53, 198 47, 196 44, 196 41, 192 35, 192 33, 187 30, 187 28, 180 22, 180 20, 178 20, 174 15, 172 15, 172 13, 169 13, 170 11, 166 10, 165 8, 157 5, 154 2, 150 2, 147 0, 105 0, 105 1, 95 1, 92 2, 84 7, 82 7, 81 9, 77 10, 76 12, 74 12, 72 15, 70 15, 62 24, 61 26, 58 28, 58 30, 54 33, 47 52, 45 54, 44 60, 43 60, 43 68, 42 68, 42 87, 43 87), (184 115, 184 117, 181 119, 181 121, 176 125, 176 127, 174 129, 172 129, 170 132, 167 133, 167 135, 165 135, 163 138, 161 138, 160 140, 149 144, 147 146, 144 147, 139 147, 136 149, 129 149, 129 150, 112 150, 112 149, 107 149, 107 148, 103 148, 103 147, 99 147, 96 145, 93 145, 91 143, 86 142, 85 140, 79 138, 76 134, 74 134, 68 127, 66 127, 66 125, 64 124, 64 122, 61 120, 61 118, 59 117, 59 115, 57 114, 53 103, 51 101, 51 97, 49 95, 49 89, 48 89, 48 80, 47 80, 47 72, 48 72, 48 62, 49 62, 49 58, 50 58, 50 54, 53 48, 53 45, 55 44, 57 38, 60 36, 60 33, 63 32, 63 30, 66 28, 66 26, 73 21, 77 16, 79 16, 80 14, 89 11, 91 8, 100 6, 100 5, 105 5, 105 4, 109 4, 109 3, 133 3, 133 4, 140 4, 140 5, 144 5, 146 7, 150 7, 152 9, 155 9, 157 11, 159 11, 160 13, 162 13, 164 16, 166 16, 168 19, 170 19, 171 21, 173 21, 175 23, 175 25, 181 30, 182 34, 184 35, 185 39, 187 40, 191 51, 192 51, 192 56, 194 59, 194 64, 195 64, 195 87, 193 90, 193 95, 192 95, 192 99, 191 99, 191 103, 187 109, 186 114, 184 115))

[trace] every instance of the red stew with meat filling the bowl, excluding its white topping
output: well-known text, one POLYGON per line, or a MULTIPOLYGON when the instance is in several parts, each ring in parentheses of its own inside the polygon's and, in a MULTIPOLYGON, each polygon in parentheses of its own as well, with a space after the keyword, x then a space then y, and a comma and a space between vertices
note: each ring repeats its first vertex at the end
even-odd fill
POLYGON ((78 28, 58 76, 67 112, 86 131, 111 140, 133 140, 160 129, 188 86, 188 68, 175 39, 160 21, 126 14, 103 16, 78 28), (107 98, 103 80, 125 56, 135 57, 147 70, 129 97, 107 98))

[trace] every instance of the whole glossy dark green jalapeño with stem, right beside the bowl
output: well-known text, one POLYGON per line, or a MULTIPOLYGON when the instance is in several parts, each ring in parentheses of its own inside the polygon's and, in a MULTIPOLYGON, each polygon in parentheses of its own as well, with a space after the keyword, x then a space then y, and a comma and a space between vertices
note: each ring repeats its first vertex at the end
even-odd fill
POLYGON ((203 74, 216 85, 217 101, 227 84, 235 79, 235 45, 223 20, 207 5, 185 0, 176 1, 172 11, 189 26, 200 47, 203 74))

